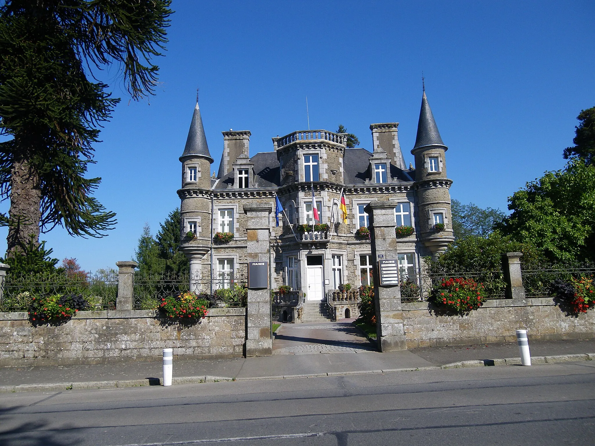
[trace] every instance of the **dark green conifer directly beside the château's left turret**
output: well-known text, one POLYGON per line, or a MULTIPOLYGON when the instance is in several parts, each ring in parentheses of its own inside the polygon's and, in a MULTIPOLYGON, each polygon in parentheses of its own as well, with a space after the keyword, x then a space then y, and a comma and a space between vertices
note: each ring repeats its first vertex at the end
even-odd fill
POLYGON ((190 268, 188 257, 180 250, 180 209, 176 208, 170 212, 165 221, 160 225, 156 235, 156 243, 159 247, 159 257, 165 261, 165 272, 187 272, 190 268))

